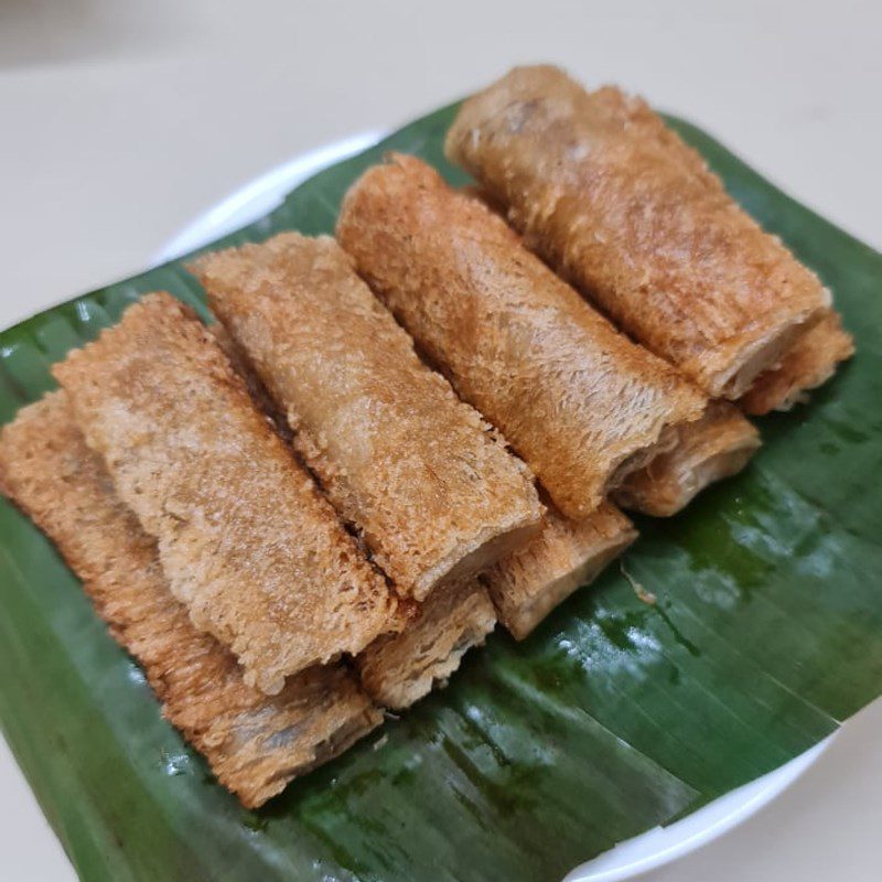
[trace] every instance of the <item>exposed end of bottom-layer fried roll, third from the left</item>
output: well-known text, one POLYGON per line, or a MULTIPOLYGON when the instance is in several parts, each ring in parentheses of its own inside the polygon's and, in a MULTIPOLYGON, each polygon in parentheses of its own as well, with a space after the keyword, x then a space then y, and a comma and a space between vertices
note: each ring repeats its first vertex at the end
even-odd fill
POLYGON ((499 621, 524 639, 636 538, 631 521, 609 503, 584 520, 549 507, 539 535, 484 576, 499 621))

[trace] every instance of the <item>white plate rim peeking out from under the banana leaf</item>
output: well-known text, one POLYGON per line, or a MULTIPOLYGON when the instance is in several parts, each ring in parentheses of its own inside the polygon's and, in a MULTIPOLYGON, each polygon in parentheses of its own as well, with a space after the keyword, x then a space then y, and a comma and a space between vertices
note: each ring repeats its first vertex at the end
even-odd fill
MULTIPOLYGON (((187 224, 155 257, 154 265, 207 245, 220 236, 257 220, 275 208, 286 193, 322 169, 366 150, 381 137, 364 132, 314 150, 273 169, 239 187, 187 224)), ((827 749, 830 735, 762 778, 732 790, 669 827, 656 827, 621 842, 573 870, 566 882, 620 882, 655 870, 695 851, 733 829, 790 786, 827 749)))

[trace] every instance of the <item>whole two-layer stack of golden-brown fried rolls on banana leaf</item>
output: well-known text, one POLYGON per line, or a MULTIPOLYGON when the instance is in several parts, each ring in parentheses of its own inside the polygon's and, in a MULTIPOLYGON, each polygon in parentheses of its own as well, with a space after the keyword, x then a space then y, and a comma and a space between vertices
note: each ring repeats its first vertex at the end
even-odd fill
POLYGON ((482 198, 394 154, 336 240, 200 257, 216 324, 146 295, 0 434, 3 493, 248 807, 497 620, 529 635, 636 539, 622 508, 741 471, 743 412, 853 351, 643 101, 518 68, 447 149, 482 198))

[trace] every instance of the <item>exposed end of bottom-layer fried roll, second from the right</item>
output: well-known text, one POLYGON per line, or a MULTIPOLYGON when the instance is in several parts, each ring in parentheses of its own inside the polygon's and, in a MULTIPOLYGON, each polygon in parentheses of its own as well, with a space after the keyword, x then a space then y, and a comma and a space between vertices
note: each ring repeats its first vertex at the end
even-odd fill
POLYGON ((704 416, 679 427, 677 443, 632 472, 613 492, 623 508, 667 517, 704 487, 740 472, 760 448, 760 433, 728 401, 712 401, 704 416))

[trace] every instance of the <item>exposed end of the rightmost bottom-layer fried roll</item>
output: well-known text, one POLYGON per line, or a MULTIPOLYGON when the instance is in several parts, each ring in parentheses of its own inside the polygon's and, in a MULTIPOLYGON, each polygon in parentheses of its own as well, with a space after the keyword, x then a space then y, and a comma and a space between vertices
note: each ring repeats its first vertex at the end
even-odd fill
POLYGON ((739 401, 755 416, 770 410, 789 410, 808 398, 808 390, 825 384, 840 362, 854 354, 854 341, 842 327, 842 320, 827 310, 820 321, 803 334, 781 364, 761 374, 739 401))

